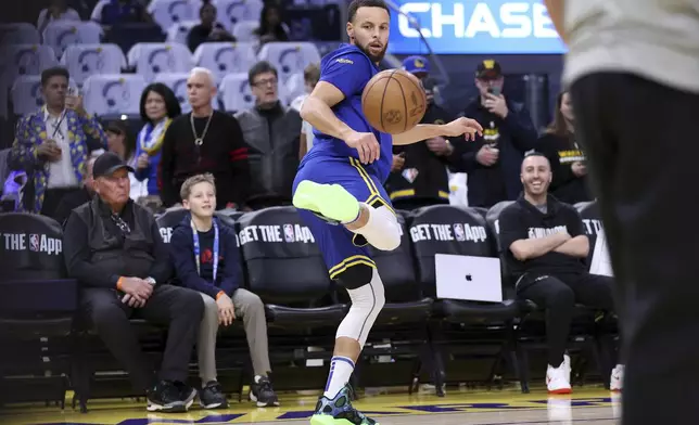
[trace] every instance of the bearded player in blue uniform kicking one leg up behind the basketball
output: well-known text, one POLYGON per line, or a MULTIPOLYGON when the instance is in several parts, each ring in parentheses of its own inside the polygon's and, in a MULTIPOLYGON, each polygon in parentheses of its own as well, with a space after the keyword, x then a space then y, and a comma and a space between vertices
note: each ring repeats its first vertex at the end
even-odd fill
POLYGON ((419 125, 393 137, 369 126, 361 92, 379 72, 389 41, 389 20, 382 0, 352 1, 346 26, 351 44, 323 57, 320 81, 301 111, 316 139, 298 168, 293 203, 318 241, 330 278, 352 299, 338 329, 330 376, 310 418, 313 425, 376 424, 352 407, 347 382, 384 304, 383 284, 366 245, 392 250, 401 243, 398 221, 383 189, 391 170, 392 142, 409 144, 465 133, 471 139, 482 131, 468 118, 442 126, 419 125))

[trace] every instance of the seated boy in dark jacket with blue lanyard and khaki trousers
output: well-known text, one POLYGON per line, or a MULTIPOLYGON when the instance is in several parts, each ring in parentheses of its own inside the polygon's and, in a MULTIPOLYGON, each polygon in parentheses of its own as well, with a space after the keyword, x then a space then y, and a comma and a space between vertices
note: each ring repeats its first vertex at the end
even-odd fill
POLYGON ((214 176, 198 175, 182 183, 182 205, 190 214, 173 231, 171 257, 177 276, 186 287, 204 299, 204 318, 199 331, 200 402, 205 409, 226 408, 226 397, 216 382, 216 333, 237 318, 243 320, 255 373, 250 398, 257 407, 279 405, 269 381, 267 320, 259 297, 240 287, 240 255, 236 233, 214 218, 214 176))

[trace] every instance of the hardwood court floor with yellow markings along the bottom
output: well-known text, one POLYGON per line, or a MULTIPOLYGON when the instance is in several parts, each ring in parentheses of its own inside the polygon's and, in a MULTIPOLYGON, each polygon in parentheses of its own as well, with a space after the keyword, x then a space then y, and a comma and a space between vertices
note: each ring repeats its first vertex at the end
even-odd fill
MULTIPOLYGON (((595 424, 618 423, 619 397, 601 387, 576 387, 575 394, 549 397, 535 389, 522 395, 516 389, 448 391, 444 398, 431 394, 408 396, 391 394, 366 396, 355 403, 381 425, 516 425, 516 424, 595 424)), ((39 405, 10 407, 0 411, 3 425, 157 425, 157 424, 255 424, 301 425, 316 404, 315 396, 282 395, 282 405, 256 409, 251 403, 233 401, 230 409, 205 411, 195 403, 186 414, 153 414, 143 403, 128 400, 100 400, 89 404, 90 411, 80 414, 66 403, 60 408, 39 405), (196 408, 194 408, 196 407, 196 408)))

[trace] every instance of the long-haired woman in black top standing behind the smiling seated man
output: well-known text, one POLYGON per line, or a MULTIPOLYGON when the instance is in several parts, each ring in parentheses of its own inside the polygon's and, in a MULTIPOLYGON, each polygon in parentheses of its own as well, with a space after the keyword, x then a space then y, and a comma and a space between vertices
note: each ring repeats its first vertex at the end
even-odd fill
POLYGON ((575 116, 567 91, 558 95, 554 121, 539 138, 538 146, 551 163, 554 196, 568 204, 590 201, 585 153, 575 141, 575 116))

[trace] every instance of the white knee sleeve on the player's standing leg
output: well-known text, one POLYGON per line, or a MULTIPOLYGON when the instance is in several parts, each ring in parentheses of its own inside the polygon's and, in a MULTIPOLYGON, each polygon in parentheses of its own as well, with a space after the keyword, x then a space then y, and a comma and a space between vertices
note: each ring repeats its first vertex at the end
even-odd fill
MULTIPOLYGON (((338 334, 335 335, 336 338, 347 337, 356 339, 363 348, 369 336, 369 331, 373 326, 373 322, 377 320, 379 312, 381 312, 385 304, 383 283, 381 282, 379 272, 374 268, 367 268, 371 270, 369 283, 352 289, 347 288, 350 299, 352 299, 352 307, 340 324, 340 327, 338 327, 338 334)), ((354 267, 351 269, 354 269, 354 267)))

